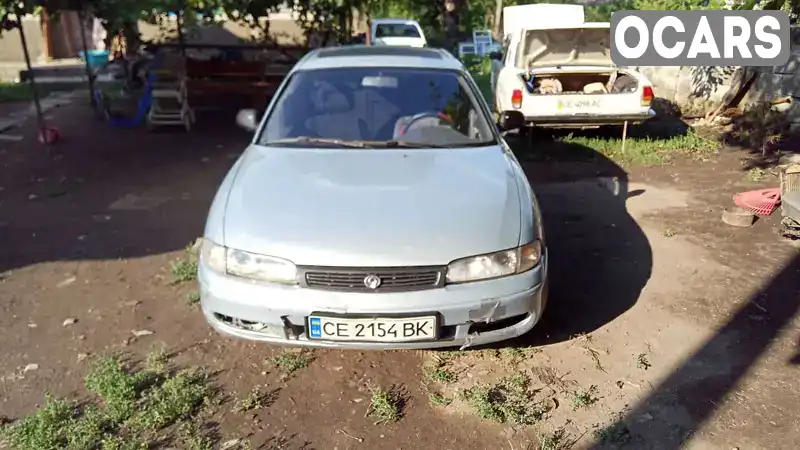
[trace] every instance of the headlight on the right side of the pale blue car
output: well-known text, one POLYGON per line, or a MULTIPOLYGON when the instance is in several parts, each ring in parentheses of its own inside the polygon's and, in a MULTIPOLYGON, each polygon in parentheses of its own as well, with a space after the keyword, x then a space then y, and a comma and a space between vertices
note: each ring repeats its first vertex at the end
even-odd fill
POLYGON ((447 266, 447 282, 468 283, 506 277, 533 269, 542 258, 542 244, 535 240, 521 247, 458 259, 447 266))

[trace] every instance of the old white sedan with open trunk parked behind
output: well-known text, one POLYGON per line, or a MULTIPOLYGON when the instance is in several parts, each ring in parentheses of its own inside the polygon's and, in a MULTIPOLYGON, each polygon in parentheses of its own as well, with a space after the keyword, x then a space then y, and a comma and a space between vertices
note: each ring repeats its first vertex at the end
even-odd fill
POLYGON ((609 23, 568 14, 551 24, 536 16, 516 19, 519 28, 505 30, 503 51, 490 55, 498 112, 521 111, 529 126, 577 129, 633 124, 655 115, 652 83, 611 62, 609 23))

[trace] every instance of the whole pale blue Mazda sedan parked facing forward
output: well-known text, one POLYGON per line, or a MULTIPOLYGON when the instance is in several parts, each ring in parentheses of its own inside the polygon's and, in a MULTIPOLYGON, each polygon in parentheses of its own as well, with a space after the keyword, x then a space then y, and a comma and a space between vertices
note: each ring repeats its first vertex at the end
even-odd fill
POLYGON ((501 135, 524 117, 495 120, 450 53, 317 49, 237 122, 253 138, 211 205, 198 269, 218 331, 466 348, 539 321, 542 218, 501 135))

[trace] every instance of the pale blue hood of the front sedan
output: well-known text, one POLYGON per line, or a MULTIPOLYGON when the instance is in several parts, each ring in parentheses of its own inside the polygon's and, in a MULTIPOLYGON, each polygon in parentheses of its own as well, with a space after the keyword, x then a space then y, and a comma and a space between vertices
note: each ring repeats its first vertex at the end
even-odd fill
POLYGON ((253 146, 224 213, 224 243, 299 265, 440 265, 512 248, 517 180, 501 147, 253 146))

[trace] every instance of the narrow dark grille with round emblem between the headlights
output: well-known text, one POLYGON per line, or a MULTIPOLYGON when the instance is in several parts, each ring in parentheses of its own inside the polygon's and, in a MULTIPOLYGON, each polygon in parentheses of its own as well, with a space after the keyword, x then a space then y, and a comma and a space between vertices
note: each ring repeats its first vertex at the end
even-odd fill
POLYGON ((350 292, 402 292, 444 286, 443 267, 344 268, 307 267, 305 286, 314 289, 350 292), (365 279, 376 276, 380 284, 370 288, 365 279))

